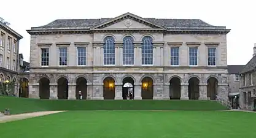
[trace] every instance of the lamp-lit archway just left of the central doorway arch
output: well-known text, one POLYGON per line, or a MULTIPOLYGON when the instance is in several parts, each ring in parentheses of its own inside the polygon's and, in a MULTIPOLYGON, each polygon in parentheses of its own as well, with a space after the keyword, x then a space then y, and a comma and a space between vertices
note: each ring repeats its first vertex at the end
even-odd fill
POLYGON ((115 80, 112 77, 106 77, 103 83, 103 98, 115 99, 115 80))

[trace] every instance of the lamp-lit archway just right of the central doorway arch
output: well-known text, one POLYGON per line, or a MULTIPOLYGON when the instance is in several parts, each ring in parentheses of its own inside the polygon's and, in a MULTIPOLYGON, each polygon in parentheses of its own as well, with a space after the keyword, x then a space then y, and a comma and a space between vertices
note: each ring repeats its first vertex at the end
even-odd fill
POLYGON ((150 77, 144 77, 141 82, 141 98, 153 99, 153 79, 150 77))

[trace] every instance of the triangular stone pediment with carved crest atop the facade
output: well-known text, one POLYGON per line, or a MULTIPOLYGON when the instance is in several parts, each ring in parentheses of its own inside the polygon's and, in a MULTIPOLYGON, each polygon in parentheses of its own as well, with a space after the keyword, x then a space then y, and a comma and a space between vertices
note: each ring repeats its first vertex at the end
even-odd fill
POLYGON ((165 29, 163 26, 156 25, 144 18, 125 13, 115 18, 111 18, 103 23, 93 26, 91 29, 165 29))

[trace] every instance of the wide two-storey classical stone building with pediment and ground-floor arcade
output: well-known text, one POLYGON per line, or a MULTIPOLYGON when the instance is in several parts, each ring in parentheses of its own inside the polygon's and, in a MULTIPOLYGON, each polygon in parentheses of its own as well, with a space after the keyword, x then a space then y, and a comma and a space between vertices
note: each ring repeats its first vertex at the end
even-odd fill
POLYGON ((55 20, 31 34, 29 98, 228 98, 227 33, 202 20, 55 20))

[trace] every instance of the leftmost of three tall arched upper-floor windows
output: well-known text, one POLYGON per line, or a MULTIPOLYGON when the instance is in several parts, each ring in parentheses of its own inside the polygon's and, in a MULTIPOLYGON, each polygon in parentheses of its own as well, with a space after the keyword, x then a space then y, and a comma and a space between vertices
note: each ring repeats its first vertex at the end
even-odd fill
POLYGON ((104 65, 115 64, 115 40, 111 36, 107 36, 104 39, 104 65))

